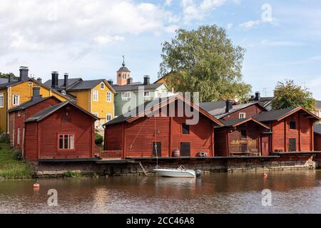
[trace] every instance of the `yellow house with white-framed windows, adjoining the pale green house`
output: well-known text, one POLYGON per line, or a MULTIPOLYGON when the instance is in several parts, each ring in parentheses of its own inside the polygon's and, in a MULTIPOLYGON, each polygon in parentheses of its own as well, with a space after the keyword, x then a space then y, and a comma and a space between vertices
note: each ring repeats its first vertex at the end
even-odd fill
POLYGON ((83 81, 82 78, 58 79, 58 73, 53 72, 52 78, 46 81, 50 86, 68 96, 81 108, 96 115, 99 120, 95 123, 96 130, 103 130, 103 124, 114 118, 114 93, 115 90, 105 79, 83 81))

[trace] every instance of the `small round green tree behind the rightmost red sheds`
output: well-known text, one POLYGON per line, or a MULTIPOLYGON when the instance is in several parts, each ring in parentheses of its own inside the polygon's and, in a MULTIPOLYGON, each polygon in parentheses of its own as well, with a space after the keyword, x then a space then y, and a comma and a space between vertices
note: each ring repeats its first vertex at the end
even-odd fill
POLYGON ((294 81, 278 82, 274 90, 273 109, 303 107, 307 110, 315 108, 315 99, 307 88, 295 85, 294 81))

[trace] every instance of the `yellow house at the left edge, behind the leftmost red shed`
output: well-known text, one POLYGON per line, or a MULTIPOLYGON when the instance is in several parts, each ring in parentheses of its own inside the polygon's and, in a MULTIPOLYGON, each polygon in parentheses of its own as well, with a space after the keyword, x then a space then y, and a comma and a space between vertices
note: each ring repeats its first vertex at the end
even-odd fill
POLYGON ((9 133, 9 115, 8 110, 22 103, 31 100, 33 88, 40 88, 40 95, 44 98, 54 96, 61 101, 68 100, 66 95, 59 93, 57 90, 45 86, 40 81, 36 81, 28 76, 28 68, 20 68, 18 80, 13 78, 6 79, 6 82, 0 84, 0 132, 9 133))

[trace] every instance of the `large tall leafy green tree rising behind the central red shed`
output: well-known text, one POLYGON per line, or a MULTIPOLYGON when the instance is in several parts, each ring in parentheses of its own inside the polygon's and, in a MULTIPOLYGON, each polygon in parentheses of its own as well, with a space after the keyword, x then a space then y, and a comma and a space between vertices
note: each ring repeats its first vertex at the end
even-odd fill
POLYGON ((203 102, 250 97, 251 86, 241 73, 245 49, 234 46, 224 28, 178 29, 175 38, 162 46, 158 76, 165 76, 175 91, 199 92, 203 102))

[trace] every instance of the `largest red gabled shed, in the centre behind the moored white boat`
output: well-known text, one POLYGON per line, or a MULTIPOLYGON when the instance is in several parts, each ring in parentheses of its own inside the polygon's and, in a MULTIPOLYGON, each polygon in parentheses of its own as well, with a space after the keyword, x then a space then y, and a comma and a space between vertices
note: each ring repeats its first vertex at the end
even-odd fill
POLYGON ((213 157, 215 125, 223 123, 180 95, 160 98, 106 123, 105 150, 121 151, 123 158, 173 157, 174 150, 182 157, 197 157, 202 152, 213 157), (199 121, 188 125, 191 118, 185 112, 178 115, 178 103, 193 107, 199 121), (153 108, 146 110, 148 105, 153 108), (151 115, 156 113, 159 116, 151 115))

